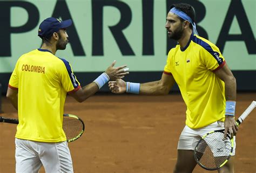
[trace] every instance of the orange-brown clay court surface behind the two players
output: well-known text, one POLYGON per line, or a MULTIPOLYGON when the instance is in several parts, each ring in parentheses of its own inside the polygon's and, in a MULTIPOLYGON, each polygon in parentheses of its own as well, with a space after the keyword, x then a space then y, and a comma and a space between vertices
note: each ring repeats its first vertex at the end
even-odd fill
MULTIPOLYGON (((239 93, 237 117, 256 93, 239 93)), ((3 117, 17 118, 3 98, 3 117)), ((85 133, 69 143, 75 172, 172 172, 178 137, 185 125, 185 104, 179 94, 167 96, 96 95, 84 103, 67 97, 65 113, 85 122, 85 133)), ((235 172, 256 172, 256 110, 237 134, 235 172)), ((0 124, 0 172, 15 172, 16 125, 0 124)), ((41 170, 41 172, 44 172, 41 170)), ((196 167, 194 172, 206 171, 196 167)))

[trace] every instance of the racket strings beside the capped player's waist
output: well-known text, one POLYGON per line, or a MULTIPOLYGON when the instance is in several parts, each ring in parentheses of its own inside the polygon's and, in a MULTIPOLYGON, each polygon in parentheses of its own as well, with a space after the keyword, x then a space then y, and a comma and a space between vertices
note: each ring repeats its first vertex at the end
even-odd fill
POLYGON ((83 122, 77 118, 64 116, 62 128, 66 134, 66 139, 70 140, 76 138, 83 132, 84 125, 83 122))

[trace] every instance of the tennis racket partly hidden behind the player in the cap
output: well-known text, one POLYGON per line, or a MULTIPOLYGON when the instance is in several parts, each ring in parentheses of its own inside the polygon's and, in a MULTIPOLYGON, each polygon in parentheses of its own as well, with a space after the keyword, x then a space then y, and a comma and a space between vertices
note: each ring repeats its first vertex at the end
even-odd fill
MULTIPOLYGON (((0 122, 19 124, 18 119, 5 117, 0 117, 0 122)), ((72 114, 63 114, 62 128, 66 134, 66 141, 72 142, 80 138, 80 136, 84 133, 84 122, 82 119, 72 114)))

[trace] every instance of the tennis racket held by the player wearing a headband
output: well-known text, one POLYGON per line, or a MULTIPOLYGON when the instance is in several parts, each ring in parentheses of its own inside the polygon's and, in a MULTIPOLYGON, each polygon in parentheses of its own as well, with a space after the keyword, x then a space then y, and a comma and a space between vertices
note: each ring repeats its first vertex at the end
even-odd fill
MULTIPOLYGON (((252 112, 256 102, 253 101, 237 120, 237 126, 252 112)), ((227 163, 233 152, 234 142, 227 134, 223 140, 224 129, 212 131, 204 135, 194 148, 194 158, 204 169, 217 170, 227 163)))

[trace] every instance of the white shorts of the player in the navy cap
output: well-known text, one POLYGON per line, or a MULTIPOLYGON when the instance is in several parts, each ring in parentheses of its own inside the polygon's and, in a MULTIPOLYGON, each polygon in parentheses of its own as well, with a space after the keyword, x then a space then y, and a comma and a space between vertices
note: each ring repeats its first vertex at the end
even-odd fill
POLYGON ((16 172, 73 172, 68 142, 36 142, 15 139, 16 172))

